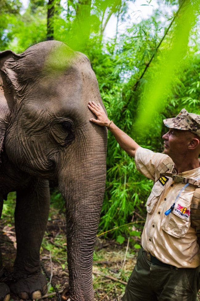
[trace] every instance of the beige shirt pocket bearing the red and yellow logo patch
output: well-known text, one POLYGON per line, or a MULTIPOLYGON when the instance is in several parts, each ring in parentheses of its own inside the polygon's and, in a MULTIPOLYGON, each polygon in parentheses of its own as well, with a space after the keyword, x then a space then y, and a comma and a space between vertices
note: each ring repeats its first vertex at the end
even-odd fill
POLYGON ((179 197, 174 210, 169 215, 164 215, 162 230, 176 238, 184 237, 190 228, 190 203, 191 200, 179 197))

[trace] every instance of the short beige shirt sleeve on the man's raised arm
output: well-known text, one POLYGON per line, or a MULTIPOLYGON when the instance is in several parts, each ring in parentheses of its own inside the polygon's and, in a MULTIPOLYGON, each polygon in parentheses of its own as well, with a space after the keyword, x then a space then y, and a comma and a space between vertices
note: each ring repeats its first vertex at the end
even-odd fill
POLYGON ((140 173, 155 180, 158 166, 168 157, 166 154, 154 153, 150 149, 139 147, 135 153, 135 165, 140 173))

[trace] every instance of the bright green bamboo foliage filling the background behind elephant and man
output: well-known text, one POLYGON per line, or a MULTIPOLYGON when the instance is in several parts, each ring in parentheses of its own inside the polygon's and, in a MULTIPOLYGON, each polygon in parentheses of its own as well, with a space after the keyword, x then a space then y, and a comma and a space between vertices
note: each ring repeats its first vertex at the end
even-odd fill
MULTIPOLYGON (((30 45, 46 40, 50 8, 46 1, 31 0, 21 16, 19 1, 7 0, 7 6, 2 3, 0 1, 1 50, 10 48, 23 52, 30 45)), ((157 152, 162 152, 162 135, 166 131, 162 119, 176 116, 183 107, 200 113, 200 43, 196 18, 199 1, 165 0, 162 3, 174 8, 174 12, 166 15, 155 10, 146 20, 132 21, 132 26, 121 35, 116 28, 113 39, 104 38, 106 25, 111 16, 120 22, 126 20, 128 0, 69 0, 63 6, 55 0, 51 4, 54 6, 51 18, 54 39, 66 42, 89 57, 110 119, 138 144, 157 152), (183 5, 184 10, 173 21, 178 5, 183 5), (172 26, 166 35, 170 22, 172 26), (165 38, 159 45, 162 37, 165 38)), ((133 158, 119 147, 109 132, 106 191, 99 233, 107 232, 106 235, 120 243, 128 236, 137 236, 131 234, 127 224, 133 220, 137 229, 142 227, 152 185, 151 180, 138 173, 133 158), (108 232, 111 229, 115 230, 108 232)), ((64 211, 64 201, 57 191, 52 194, 51 206, 64 211)), ((134 240, 133 244, 135 249, 139 247, 134 240)))

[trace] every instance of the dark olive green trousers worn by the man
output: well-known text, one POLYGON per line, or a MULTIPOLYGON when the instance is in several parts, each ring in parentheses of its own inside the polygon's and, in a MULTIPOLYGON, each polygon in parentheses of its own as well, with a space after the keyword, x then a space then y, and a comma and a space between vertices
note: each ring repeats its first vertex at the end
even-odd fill
POLYGON ((196 301, 198 290, 199 267, 176 270, 157 265, 140 249, 122 301, 196 301))

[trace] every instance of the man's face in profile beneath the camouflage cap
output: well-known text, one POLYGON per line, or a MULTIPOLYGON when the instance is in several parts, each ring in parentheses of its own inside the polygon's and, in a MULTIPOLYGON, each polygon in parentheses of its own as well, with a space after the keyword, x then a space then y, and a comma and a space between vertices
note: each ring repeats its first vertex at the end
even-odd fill
POLYGON ((164 153, 170 157, 184 155, 188 152, 188 144, 193 134, 189 131, 170 128, 169 132, 162 136, 164 139, 164 153))

